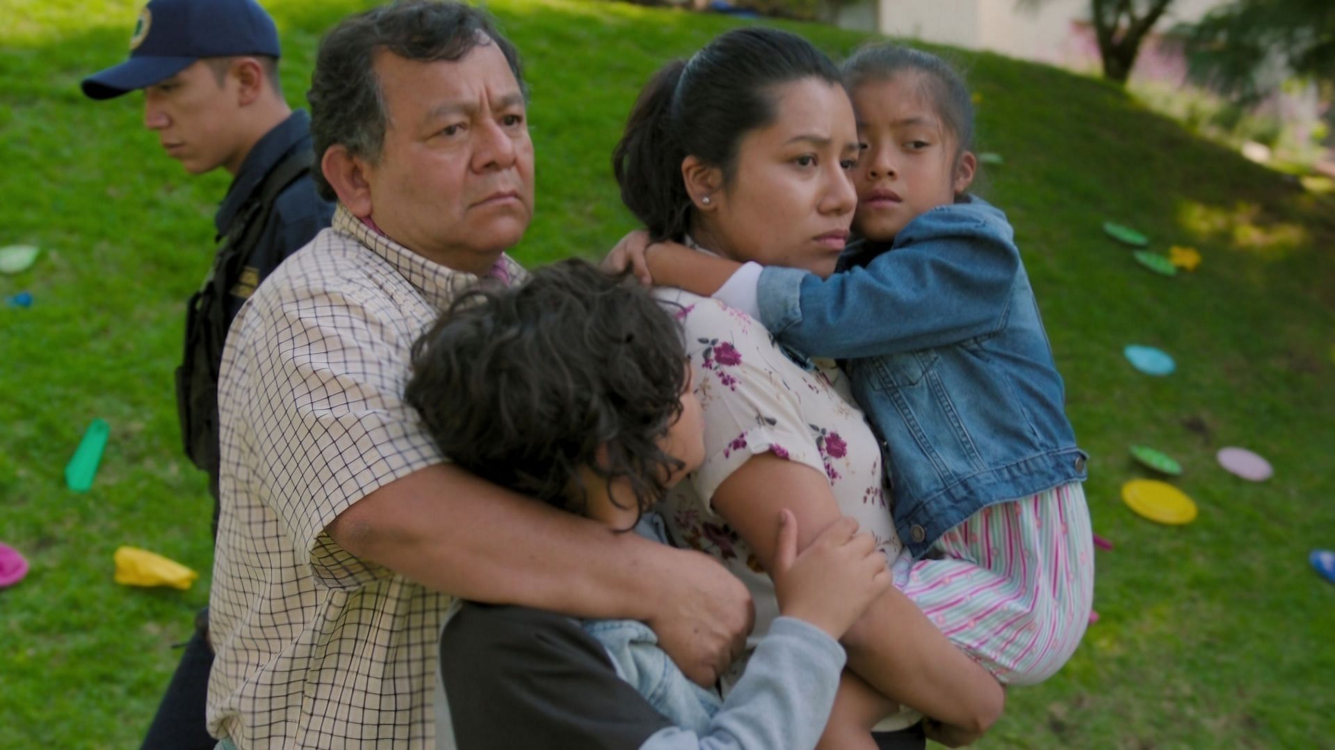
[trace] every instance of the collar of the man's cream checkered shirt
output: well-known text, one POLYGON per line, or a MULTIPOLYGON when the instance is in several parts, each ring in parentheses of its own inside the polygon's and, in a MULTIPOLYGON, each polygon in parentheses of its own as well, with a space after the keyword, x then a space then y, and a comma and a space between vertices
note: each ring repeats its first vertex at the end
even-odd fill
MULTIPOLYGON (((455 271, 413 252, 391 240, 374 223, 354 216, 342 203, 334 210, 332 227, 334 231, 350 235, 358 244, 383 258, 437 310, 445 310, 454 302, 455 295, 482 280, 475 274, 455 271)), ((510 286, 523 280, 525 271, 509 255, 502 254, 486 278, 510 286)))

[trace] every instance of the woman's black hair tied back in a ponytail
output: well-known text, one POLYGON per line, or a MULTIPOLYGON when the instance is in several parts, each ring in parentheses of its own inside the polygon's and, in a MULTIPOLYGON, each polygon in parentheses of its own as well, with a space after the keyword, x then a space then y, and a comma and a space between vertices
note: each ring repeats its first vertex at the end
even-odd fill
POLYGON ((696 156, 721 168, 726 184, 742 136, 774 121, 773 88, 812 76, 840 83, 821 51, 772 28, 729 31, 689 61, 669 63, 639 92, 613 151, 621 200, 655 240, 680 242, 692 207, 681 163, 696 156))

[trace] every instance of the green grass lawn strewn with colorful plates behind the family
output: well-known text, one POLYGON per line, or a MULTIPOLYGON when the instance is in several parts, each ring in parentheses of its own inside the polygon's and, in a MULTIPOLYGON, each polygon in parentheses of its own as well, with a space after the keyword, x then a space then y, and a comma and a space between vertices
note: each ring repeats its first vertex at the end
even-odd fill
MULTIPOLYGON (((0 276, 0 540, 32 573, 0 591, 0 747, 138 745, 207 601, 204 480, 182 456, 171 370, 184 300, 207 271, 226 175, 191 179, 142 127, 142 97, 93 103, 80 77, 119 61, 132 0, 5 0, 0 24, 0 246, 39 244, 0 276), (92 491, 63 467, 93 418, 111 443, 92 491), (112 582, 136 544, 203 574, 190 591, 112 582)), ((319 33, 363 7, 270 0, 287 96, 302 103, 319 33)), ((533 88, 538 214, 518 258, 601 256, 633 223, 610 152, 643 80, 733 23, 631 5, 497 0, 533 88)), ((832 55, 862 37, 790 25, 832 55)), ((1089 629, 1069 666, 1012 690, 984 746, 1331 746, 1335 586, 1335 202, 1193 139, 1119 89, 995 55, 955 53, 977 92, 983 192, 1007 210, 1092 454, 1099 552, 1089 629), (1204 263, 1165 279, 1100 232, 1132 223, 1204 263), (1169 351, 1169 378, 1124 346, 1169 351), (1153 444, 1200 506, 1155 526, 1119 499, 1153 444), (1222 446, 1275 478, 1223 472, 1222 446)))

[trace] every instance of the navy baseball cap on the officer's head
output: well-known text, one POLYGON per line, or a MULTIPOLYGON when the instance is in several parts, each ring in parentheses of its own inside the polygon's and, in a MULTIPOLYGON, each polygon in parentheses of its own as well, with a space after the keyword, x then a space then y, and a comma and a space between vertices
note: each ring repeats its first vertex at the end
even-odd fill
POLYGON ((83 80, 89 99, 152 85, 202 57, 278 57, 274 19, 255 0, 152 0, 139 12, 129 59, 83 80))

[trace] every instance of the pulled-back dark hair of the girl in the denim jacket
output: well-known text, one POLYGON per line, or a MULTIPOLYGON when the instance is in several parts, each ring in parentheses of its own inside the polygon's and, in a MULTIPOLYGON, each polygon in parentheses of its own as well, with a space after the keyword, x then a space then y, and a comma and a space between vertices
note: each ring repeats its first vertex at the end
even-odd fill
POLYGON ((868 81, 918 73, 924 96, 955 136, 955 157, 973 148, 973 99, 964 77, 943 57, 897 44, 869 44, 845 60, 842 68, 849 93, 868 81))

